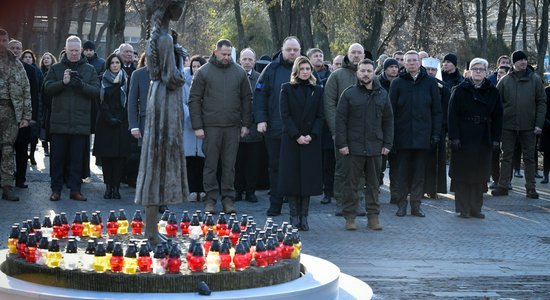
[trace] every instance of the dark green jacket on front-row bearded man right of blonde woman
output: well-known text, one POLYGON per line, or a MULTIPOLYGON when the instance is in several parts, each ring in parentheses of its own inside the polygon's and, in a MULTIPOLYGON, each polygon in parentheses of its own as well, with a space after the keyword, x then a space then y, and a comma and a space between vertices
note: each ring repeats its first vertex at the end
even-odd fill
POLYGON ((336 110, 336 148, 359 156, 379 156, 393 144, 393 113, 388 94, 378 81, 372 90, 357 83, 340 97, 336 110))

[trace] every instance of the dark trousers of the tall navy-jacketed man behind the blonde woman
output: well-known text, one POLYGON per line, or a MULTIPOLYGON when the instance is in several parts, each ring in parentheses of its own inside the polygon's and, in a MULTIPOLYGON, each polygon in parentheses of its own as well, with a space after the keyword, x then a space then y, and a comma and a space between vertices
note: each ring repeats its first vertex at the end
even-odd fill
POLYGON ((266 137, 267 156, 269 160, 269 211, 280 213, 283 206, 283 196, 279 192, 279 157, 281 154, 281 139, 266 137))

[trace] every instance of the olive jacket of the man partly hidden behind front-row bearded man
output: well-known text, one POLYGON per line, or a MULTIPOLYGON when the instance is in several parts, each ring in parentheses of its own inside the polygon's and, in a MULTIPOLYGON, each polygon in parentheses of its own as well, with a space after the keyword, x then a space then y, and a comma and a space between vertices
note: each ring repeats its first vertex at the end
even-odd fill
POLYGON ((325 119, 332 135, 336 134, 336 106, 344 90, 357 82, 356 72, 357 66, 351 63, 346 55, 342 68, 330 74, 325 85, 325 119))

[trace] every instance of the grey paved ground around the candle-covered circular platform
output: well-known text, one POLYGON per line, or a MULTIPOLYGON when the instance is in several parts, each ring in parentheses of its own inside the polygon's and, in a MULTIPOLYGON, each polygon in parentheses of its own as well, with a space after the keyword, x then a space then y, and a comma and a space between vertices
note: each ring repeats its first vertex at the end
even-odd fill
MULTIPOLYGON (((46 214, 65 211, 70 219, 75 211, 124 208, 128 217, 140 209, 133 204, 134 190, 123 187, 121 200, 104 200, 101 171, 83 184, 87 202, 48 200, 47 160, 41 149, 38 166, 28 174, 29 189, 17 189, 22 201, 0 201, 0 247, 5 248, 10 225, 46 214)), ((387 184, 387 182, 386 182, 387 184)), ((309 232, 302 232, 304 252, 327 259, 340 269, 367 282, 375 299, 550 299, 550 186, 538 185, 541 198, 524 197, 523 179, 514 179, 514 191, 507 197, 485 196, 485 220, 457 218, 453 195, 425 200, 426 218, 394 215, 388 187, 384 185, 381 223, 384 230, 345 231, 344 220, 334 216, 335 205, 311 202, 309 232)), ((259 224, 265 221, 268 198, 257 192, 260 202, 238 202, 240 213, 252 214, 259 224)), ((178 212, 202 208, 200 203, 171 206, 178 212)), ((282 222, 284 214, 274 218, 282 222)))

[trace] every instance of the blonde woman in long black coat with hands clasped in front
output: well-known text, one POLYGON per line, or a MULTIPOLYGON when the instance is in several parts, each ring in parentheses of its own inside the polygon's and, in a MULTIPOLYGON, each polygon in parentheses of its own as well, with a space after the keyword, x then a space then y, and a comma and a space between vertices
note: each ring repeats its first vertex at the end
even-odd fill
POLYGON ((290 224, 307 231, 309 197, 323 192, 321 131, 323 88, 316 85, 306 57, 294 61, 290 82, 281 87, 283 120, 279 188, 287 196, 290 224))

